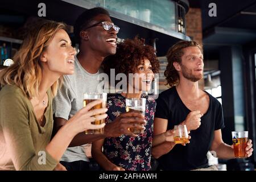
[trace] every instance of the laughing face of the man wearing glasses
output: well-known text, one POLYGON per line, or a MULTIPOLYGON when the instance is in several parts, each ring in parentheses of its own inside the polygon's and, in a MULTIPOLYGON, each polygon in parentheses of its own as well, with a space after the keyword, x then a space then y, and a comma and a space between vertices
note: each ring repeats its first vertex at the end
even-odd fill
POLYGON ((90 47, 90 49, 97 51, 104 57, 114 55, 117 49, 117 31, 115 31, 113 28, 110 28, 108 31, 104 30, 100 22, 113 24, 108 15, 100 14, 95 16, 88 24, 88 27, 99 23, 98 26, 90 27, 84 30, 87 32, 87 45, 90 47))

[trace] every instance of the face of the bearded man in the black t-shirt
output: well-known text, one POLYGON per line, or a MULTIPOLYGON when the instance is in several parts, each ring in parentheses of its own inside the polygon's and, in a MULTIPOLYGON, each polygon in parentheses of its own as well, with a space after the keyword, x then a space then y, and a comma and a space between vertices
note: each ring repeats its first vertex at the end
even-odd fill
POLYGON ((183 49, 181 56, 180 74, 190 81, 196 82, 203 78, 204 61, 203 54, 198 47, 187 47, 183 49))

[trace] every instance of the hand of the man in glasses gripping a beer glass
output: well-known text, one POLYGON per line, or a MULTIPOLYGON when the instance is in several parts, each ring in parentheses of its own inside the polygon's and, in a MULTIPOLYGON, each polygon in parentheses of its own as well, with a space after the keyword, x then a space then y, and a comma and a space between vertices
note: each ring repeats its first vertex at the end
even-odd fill
POLYGON ((104 128, 106 137, 119 137, 122 134, 130 135, 131 137, 138 137, 128 129, 130 127, 137 127, 138 130, 144 130, 145 127, 144 117, 138 112, 128 112, 120 114, 111 123, 107 123, 104 128), (142 126, 141 126, 142 125, 142 126))

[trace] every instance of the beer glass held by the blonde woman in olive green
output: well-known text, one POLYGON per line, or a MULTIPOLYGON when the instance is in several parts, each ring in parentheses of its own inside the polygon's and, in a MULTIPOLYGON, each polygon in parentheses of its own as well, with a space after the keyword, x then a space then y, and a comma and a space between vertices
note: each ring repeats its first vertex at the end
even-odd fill
MULTIPOLYGON (((83 102, 84 107, 86 105, 88 105, 90 102, 95 101, 95 100, 102 100, 102 102, 100 104, 93 106, 92 109, 90 109, 90 110, 105 108, 107 94, 106 93, 94 93, 94 92, 84 93, 84 102, 83 102)), ((94 117, 95 116, 96 115, 94 115, 94 117)), ((92 124, 100 125, 101 123, 104 123, 104 122, 105 122, 105 119, 99 119, 99 120, 92 122, 92 124)), ((104 127, 102 129, 86 130, 85 131, 85 134, 103 134, 103 133, 104 133, 104 127)))

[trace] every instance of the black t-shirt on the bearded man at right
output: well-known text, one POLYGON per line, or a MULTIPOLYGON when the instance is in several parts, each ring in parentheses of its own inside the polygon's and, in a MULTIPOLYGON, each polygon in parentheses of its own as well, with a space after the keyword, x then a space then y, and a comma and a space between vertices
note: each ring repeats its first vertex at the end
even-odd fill
MULTIPOLYGON (((214 137, 214 130, 224 128, 224 119, 220 102, 210 94, 207 113, 201 117, 201 125, 192 130, 190 143, 186 146, 176 144, 167 154, 158 159, 163 170, 191 170, 208 167, 207 152, 214 137)), ((159 94, 156 100, 155 118, 168 119, 167 130, 183 122, 191 112, 181 101, 176 87, 159 94)))

